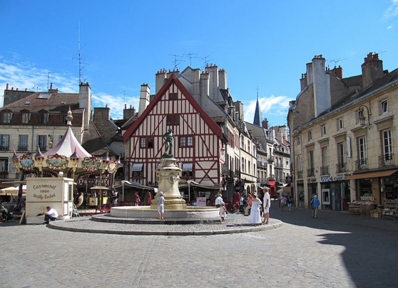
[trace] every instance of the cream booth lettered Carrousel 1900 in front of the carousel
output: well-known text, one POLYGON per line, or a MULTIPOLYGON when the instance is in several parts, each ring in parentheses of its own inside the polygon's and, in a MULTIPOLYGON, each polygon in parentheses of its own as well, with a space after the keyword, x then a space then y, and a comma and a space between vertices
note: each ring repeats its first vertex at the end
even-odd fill
POLYGON ((38 214, 47 211, 47 206, 57 210, 59 219, 72 217, 73 186, 71 178, 27 178, 26 223, 43 223, 38 214))

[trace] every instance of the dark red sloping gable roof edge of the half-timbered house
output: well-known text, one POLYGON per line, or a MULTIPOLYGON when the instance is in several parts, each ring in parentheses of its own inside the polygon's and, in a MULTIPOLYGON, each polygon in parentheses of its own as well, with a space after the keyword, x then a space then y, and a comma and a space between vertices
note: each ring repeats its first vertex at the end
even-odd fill
POLYGON ((178 90, 180 90, 182 92, 182 94, 189 100, 191 105, 200 113, 200 116, 204 119, 204 121, 209 126, 211 131, 215 135, 217 135, 218 137, 221 138, 221 136, 222 136, 221 128, 207 115, 207 113, 198 104, 198 102, 195 100, 195 98, 184 87, 184 85, 181 83, 181 81, 174 74, 172 74, 171 77, 169 78, 169 80, 165 83, 165 85, 163 85, 162 89, 159 90, 159 92, 156 94, 156 96, 153 98, 153 100, 149 103, 149 105, 146 107, 146 109, 141 114, 141 116, 137 119, 137 121, 135 121, 124 133, 123 143, 127 142, 127 140, 135 132, 135 130, 139 127, 139 125, 142 123, 142 121, 147 117, 147 115, 150 113, 150 111, 153 109, 153 107, 157 104, 157 102, 160 101, 161 97, 166 93, 166 91, 173 84, 177 86, 178 90))

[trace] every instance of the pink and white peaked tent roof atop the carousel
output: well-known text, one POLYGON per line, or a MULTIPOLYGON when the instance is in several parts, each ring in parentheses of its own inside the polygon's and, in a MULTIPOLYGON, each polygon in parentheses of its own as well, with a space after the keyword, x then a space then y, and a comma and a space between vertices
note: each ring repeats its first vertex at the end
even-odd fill
POLYGON ((75 150, 80 158, 91 157, 90 153, 87 152, 82 145, 80 145, 79 141, 73 134, 71 126, 68 125, 68 129, 66 130, 66 133, 64 137, 62 137, 61 141, 59 141, 54 148, 44 153, 44 155, 52 156, 58 154, 61 156, 71 157, 71 155, 75 153, 75 150))

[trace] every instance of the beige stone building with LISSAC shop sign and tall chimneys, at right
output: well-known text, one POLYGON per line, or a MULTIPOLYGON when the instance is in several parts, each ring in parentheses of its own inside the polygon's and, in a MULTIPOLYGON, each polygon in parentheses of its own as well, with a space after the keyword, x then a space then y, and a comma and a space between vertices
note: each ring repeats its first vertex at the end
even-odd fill
POLYGON ((331 210, 397 198, 398 69, 384 70, 373 53, 353 77, 326 69, 322 55, 306 67, 288 113, 296 206, 315 194, 331 210))

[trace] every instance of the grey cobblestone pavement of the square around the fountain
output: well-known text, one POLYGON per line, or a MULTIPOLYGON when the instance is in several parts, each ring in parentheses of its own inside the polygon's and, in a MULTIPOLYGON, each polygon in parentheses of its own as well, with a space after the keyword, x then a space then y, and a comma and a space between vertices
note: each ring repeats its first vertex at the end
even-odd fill
POLYGON ((1 223, 0 287, 397 287, 398 221, 277 203, 271 217, 284 224, 200 236, 1 223))

